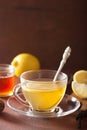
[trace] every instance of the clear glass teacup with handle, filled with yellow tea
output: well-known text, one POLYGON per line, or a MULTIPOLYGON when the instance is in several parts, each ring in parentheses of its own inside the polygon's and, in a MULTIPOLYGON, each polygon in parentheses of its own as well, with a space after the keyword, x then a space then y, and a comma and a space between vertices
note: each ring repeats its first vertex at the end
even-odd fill
POLYGON ((60 73, 53 81, 55 70, 31 70, 20 76, 20 87, 15 87, 14 95, 24 104, 29 104, 32 111, 53 112, 64 97, 67 88, 67 75, 60 73), (18 96, 19 89, 26 99, 24 102, 18 96))

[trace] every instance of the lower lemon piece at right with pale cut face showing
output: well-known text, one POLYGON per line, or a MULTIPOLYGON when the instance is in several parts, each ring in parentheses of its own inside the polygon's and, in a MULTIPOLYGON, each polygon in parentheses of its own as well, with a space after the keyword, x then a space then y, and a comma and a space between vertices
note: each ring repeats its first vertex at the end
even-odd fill
POLYGON ((80 98, 87 98, 87 84, 80 84, 72 81, 72 90, 80 98))

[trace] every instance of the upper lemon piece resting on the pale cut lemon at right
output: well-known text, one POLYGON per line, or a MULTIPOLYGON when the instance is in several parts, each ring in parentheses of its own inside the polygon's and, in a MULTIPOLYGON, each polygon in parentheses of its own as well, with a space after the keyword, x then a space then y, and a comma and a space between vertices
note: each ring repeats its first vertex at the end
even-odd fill
POLYGON ((87 84, 87 70, 77 71, 73 76, 73 80, 78 83, 87 84))

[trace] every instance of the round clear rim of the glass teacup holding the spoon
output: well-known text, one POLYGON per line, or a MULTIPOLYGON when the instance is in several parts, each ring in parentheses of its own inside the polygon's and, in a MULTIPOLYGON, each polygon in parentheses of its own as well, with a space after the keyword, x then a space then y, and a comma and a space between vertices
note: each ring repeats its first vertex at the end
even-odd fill
MULTIPOLYGON (((39 70, 29 70, 29 71, 25 71, 25 72, 23 72, 21 75, 20 75, 20 80, 22 81, 22 80, 24 80, 24 81, 26 81, 26 82, 28 82, 28 83, 37 83, 38 82, 38 80, 36 81, 36 80, 29 80, 29 79, 26 79, 26 78, 24 78, 23 76, 25 76, 26 74, 28 74, 28 73, 34 73, 34 72, 55 72, 56 73, 56 71, 57 70, 50 70, 50 69, 39 69, 39 70)), ((53 80, 51 80, 51 81, 39 81, 39 83, 59 83, 59 82, 63 82, 63 81, 65 81, 65 80, 67 80, 68 79, 68 76, 67 76, 67 74, 66 73, 64 73, 64 72, 61 72, 60 73, 60 75, 62 75, 64 78, 62 78, 61 80, 59 79, 59 80, 56 80, 56 81, 53 81, 53 80)))

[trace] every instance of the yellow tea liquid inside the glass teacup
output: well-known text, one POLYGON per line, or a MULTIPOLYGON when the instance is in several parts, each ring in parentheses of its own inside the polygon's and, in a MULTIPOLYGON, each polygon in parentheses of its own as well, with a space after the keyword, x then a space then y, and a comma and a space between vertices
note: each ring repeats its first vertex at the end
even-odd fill
POLYGON ((65 83, 31 83, 22 87, 23 94, 34 110, 52 110, 62 100, 65 94, 65 83))

